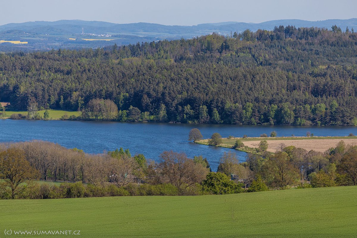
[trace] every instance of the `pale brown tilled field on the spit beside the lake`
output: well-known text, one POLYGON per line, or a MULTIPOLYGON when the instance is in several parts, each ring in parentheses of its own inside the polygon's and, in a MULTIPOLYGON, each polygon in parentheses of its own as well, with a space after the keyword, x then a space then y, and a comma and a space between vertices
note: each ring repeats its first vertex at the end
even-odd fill
MULTIPOLYGON (((295 146, 304 148, 307 151, 314 150, 319 152, 325 152, 331 147, 335 147, 341 139, 318 139, 318 140, 274 140, 268 142, 268 150, 270 152, 275 152, 280 150, 283 146, 295 146)), ((346 145, 357 145, 357 139, 343 139, 346 145)), ((244 141, 245 146, 257 148, 260 141, 244 141)))

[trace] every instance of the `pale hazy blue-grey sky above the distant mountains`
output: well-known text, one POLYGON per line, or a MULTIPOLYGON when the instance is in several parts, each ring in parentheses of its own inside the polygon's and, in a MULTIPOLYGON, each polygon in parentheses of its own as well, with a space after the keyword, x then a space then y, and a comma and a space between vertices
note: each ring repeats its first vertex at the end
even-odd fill
POLYGON ((355 17, 356 0, 0 0, 0 25, 62 19, 197 25, 355 17))

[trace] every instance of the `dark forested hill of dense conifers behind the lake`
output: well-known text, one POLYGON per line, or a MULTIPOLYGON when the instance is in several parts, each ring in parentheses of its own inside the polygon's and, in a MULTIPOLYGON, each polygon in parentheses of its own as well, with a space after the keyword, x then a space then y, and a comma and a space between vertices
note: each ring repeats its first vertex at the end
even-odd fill
POLYGON ((82 110, 104 98, 157 121, 356 125, 356 61, 357 34, 337 26, 1 54, 0 101, 82 110))

